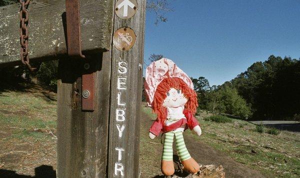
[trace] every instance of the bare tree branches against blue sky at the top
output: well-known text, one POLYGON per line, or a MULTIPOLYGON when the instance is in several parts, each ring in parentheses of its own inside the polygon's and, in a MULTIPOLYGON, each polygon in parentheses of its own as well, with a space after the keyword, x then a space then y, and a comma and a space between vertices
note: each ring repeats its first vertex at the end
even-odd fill
POLYGON ((166 22, 167 18, 165 13, 172 11, 172 8, 169 7, 169 0, 147 0, 146 9, 149 12, 154 12, 156 15, 156 20, 154 24, 159 22, 166 22))

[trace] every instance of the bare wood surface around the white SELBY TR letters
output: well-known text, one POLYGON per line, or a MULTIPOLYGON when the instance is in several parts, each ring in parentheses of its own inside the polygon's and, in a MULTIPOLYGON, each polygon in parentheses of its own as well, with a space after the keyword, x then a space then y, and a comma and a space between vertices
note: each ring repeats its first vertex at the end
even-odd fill
POLYGON ((110 87, 110 117, 109 117, 109 149, 108 149, 108 178, 119 178, 114 174, 114 164, 120 163, 124 167, 124 178, 137 178, 139 176, 139 121, 142 91, 142 66, 144 47, 144 19, 145 0, 137 0, 138 10, 128 19, 114 16, 113 31, 127 26, 136 34, 136 42, 129 51, 119 51, 112 48, 111 87, 110 87), (118 62, 126 61, 127 73, 118 73, 118 62), (139 67, 140 64, 140 67, 139 67), (126 90, 117 89, 118 77, 126 77, 126 90), (125 107, 118 106, 117 94, 121 93, 120 102, 126 103, 125 107), (116 121, 116 109, 125 109, 125 121, 116 121), (118 137, 116 124, 125 125, 122 137, 118 137), (121 161, 115 148, 122 148, 121 161))

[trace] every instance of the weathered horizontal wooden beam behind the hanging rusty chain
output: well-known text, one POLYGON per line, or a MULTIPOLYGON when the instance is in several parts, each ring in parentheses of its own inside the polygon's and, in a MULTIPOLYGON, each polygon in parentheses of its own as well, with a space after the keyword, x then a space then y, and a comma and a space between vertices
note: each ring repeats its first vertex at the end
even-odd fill
MULTIPOLYGON (((0 7, 0 64, 20 63, 20 4, 0 7)), ((66 54, 65 0, 34 0, 29 7, 30 61, 66 54)), ((111 48, 113 0, 80 0, 82 50, 111 48)), ((49 60, 49 59, 47 59, 49 60)))

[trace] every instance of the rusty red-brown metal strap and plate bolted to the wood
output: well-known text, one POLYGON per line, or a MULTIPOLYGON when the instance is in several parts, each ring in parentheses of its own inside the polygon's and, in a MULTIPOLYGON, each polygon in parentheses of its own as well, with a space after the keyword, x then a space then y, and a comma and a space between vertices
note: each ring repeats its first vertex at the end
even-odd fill
MULTIPOLYGON (((65 11, 67 53, 74 58, 84 59, 85 56, 81 53, 79 0, 65 0, 65 11)), ((88 70, 89 67, 84 66, 84 69, 88 70)), ((94 111, 94 72, 82 74, 81 89, 82 110, 94 111)))

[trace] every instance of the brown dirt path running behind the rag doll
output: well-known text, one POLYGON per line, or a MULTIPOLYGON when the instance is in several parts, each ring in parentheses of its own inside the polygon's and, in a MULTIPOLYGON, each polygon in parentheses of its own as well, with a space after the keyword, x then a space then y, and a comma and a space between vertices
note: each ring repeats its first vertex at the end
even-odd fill
MULTIPOLYGON (((152 119, 144 112, 141 114, 141 138, 146 139, 148 136, 148 129, 152 124, 152 119)), ((226 174, 226 178, 264 178, 258 171, 252 170, 241 163, 235 162, 231 158, 225 156, 223 153, 216 151, 209 147, 208 145, 201 142, 201 138, 194 139, 190 134, 184 133, 184 141, 187 147, 187 150, 190 152, 190 155, 202 165, 222 165, 226 174)), ((148 149, 155 149, 155 151, 151 152, 151 158, 160 158, 162 153, 162 145, 159 144, 160 137, 155 138, 153 142, 148 139, 145 142, 152 143, 152 148, 148 149), (158 140, 158 141, 157 141, 158 140), (154 155, 153 155, 154 154, 154 155)), ((143 156, 145 159, 146 156, 143 156)), ((144 162, 143 160, 140 161, 141 166, 141 177, 142 178, 149 178, 149 177, 160 177, 160 159, 153 160, 152 162, 144 162), (152 163, 153 165, 143 165, 143 163, 152 163), (157 165, 158 164, 158 165, 157 165), (153 169, 149 168, 153 167, 153 169), (147 168, 147 170, 143 170, 147 168), (151 170, 152 174, 149 174, 149 170, 151 170)))

